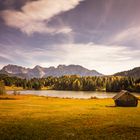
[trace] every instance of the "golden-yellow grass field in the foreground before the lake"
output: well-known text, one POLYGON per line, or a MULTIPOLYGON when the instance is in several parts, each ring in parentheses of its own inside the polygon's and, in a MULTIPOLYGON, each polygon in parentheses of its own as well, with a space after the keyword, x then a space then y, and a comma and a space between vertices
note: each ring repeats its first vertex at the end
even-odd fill
POLYGON ((139 140, 138 107, 112 99, 0 97, 0 140, 139 140))

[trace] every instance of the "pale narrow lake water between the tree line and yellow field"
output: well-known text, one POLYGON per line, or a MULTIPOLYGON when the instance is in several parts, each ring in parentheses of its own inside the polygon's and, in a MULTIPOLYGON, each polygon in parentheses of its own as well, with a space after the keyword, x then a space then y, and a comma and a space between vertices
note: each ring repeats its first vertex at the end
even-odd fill
MULTIPOLYGON (((49 96, 49 97, 59 97, 59 98, 78 98, 78 99, 88 99, 91 97, 97 98, 112 98, 117 93, 111 92, 89 92, 89 91, 57 91, 57 90, 25 90, 19 91, 20 94, 30 94, 30 95, 38 95, 38 96, 49 96)), ((13 93, 13 91, 8 91, 9 94, 13 93)), ((134 93, 135 95, 138 95, 134 93)))

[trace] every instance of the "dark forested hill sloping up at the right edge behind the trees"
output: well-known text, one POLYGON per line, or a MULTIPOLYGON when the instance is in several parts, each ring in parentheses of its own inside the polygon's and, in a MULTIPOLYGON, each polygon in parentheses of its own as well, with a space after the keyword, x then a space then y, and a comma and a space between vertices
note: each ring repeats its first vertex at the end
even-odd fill
POLYGON ((139 79, 140 78, 140 67, 136 67, 132 70, 128 70, 128 71, 123 71, 123 72, 119 72, 114 74, 115 76, 127 76, 127 77, 132 77, 135 79, 139 79))

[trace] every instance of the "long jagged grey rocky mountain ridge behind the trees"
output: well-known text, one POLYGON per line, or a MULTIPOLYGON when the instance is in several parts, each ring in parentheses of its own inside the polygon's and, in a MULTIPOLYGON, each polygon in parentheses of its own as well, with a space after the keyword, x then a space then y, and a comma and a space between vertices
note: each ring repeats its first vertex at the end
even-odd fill
POLYGON ((25 68, 17 65, 7 65, 0 70, 1 74, 17 76, 20 78, 42 78, 48 76, 79 75, 79 76, 102 76, 103 74, 96 70, 89 70, 80 65, 59 65, 55 67, 44 68, 39 65, 34 68, 25 68))

